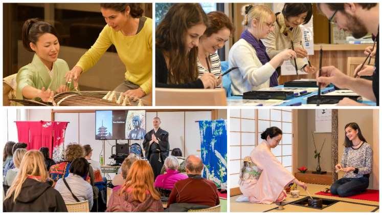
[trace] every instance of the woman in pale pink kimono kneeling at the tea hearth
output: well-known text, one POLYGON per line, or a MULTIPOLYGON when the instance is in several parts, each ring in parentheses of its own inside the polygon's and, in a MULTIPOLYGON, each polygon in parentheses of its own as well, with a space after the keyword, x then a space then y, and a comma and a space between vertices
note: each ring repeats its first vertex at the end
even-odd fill
POLYGON ((250 158, 244 159, 239 184, 243 196, 250 202, 281 202, 286 197, 284 187, 291 182, 306 190, 305 183, 297 180, 271 152, 281 138, 280 128, 267 128, 261 134, 263 141, 252 150, 250 158))

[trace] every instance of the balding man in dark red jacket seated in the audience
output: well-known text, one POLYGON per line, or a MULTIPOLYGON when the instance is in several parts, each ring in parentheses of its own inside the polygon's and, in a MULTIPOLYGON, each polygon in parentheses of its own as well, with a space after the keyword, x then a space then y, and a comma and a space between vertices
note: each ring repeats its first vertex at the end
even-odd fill
POLYGON ((215 183, 201 178, 203 166, 203 161, 198 156, 190 155, 186 158, 188 179, 174 184, 167 203, 169 212, 203 209, 220 204, 215 183))

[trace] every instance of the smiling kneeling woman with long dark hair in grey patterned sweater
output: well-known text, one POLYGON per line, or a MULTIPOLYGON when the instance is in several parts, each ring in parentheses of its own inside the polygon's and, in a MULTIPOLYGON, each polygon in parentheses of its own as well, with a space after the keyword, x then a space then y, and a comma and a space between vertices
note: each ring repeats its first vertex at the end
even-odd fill
POLYGON ((341 163, 335 165, 335 170, 343 171, 345 175, 331 185, 332 195, 348 197, 365 191, 372 166, 373 150, 362 136, 358 124, 351 122, 345 125, 344 154, 341 163))

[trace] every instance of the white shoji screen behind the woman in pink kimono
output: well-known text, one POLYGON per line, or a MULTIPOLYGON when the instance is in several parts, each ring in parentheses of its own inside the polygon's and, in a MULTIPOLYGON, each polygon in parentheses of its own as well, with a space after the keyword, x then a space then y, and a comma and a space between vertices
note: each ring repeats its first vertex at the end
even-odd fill
POLYGON ((283 131, 280 144, 272 153, 292 172, 292 112, 286 109, 232 109, 230 110, 230 184, 238 186, 240 167, 245 156, 250 156, 254 147, 262 142, 261 133, 266 128, 277 126, 283 131))

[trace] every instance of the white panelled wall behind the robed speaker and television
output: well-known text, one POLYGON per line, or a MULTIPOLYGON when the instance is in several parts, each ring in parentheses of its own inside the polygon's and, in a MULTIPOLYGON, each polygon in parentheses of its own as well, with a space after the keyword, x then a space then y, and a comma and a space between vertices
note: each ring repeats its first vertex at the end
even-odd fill
MULTIPOLYGON (((41 114, 40 112, 33 112, 41 114)), ((152 118, 158 116, 161 118, 161 128, 169 132, 170 150, 181 148, 184 156, 191 154, 200 155, 200 136, 199 126, 195 121, 210 120, 211 111, 161 111, 146 112, 146 131, 152 129, 152 118)), ((30 116, 31 118, 32 116, 30 116)), ((109 159, 111 155, 111 146, 115 145, 115 140, 106 140, 103 146, 102 141, 95 140, 95 113, 55 113, 55 121, 69 122, 65 133, 65 144, 77 142, 81 145, 89 144, 93 148, 93 160, 99 161, 102 148, 104 150, 105 164, 113 163, 109 159)), ((123 140, 122 143, 127 143, 123 140)), ((139 143, 142 146, 143 141, 131 141, 139 143)), ((120 140, 118 140, 120 143, 120 140)), ((115 152, 113 150, 113 152, 115 152)))

